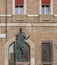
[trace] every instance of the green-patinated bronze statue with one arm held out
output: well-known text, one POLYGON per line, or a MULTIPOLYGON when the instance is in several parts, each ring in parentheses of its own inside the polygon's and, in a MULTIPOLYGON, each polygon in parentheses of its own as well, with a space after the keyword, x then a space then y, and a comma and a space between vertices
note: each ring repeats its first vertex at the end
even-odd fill
POLYGON ((16 35, 16 61, 22 61, 24 44, 25 40, 27 40, 30 36, 26 37, 25 33, 22 31, 22 28, 19 28, 19 32, 16 35))

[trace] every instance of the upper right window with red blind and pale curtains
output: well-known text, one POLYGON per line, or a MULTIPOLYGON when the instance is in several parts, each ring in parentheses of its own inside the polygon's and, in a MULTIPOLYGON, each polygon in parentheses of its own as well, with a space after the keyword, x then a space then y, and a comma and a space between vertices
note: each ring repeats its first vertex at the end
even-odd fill
POLYGON ((42 14, 50 14, 50 0, 42 0, 42 14))

